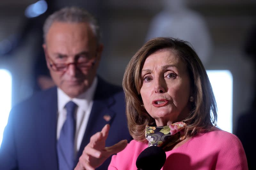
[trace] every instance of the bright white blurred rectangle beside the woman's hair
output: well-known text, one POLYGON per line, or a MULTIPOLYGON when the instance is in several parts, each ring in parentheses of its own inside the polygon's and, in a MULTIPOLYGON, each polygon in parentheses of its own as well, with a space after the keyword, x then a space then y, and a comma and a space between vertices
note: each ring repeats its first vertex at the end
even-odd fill
POLYGON ((218 108, 217 126, 232 133, 233 76, 229 70, 207 70, 218 108))

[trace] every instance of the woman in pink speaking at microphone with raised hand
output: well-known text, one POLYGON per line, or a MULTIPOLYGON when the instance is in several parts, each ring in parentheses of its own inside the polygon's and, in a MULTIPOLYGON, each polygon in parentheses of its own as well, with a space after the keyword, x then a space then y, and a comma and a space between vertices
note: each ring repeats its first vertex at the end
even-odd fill
POLYGON ((76 169, 94 169, 119 152, 108 169, 136 170, 139 154, 151 145, 166 153, 162 169, 248 169, 239 139, 215 127, 216 102, 209 78, 186 42, 149 40, 129 62, 123 87, 134 140, 105 147, 106 125, 91 137, 76 169))

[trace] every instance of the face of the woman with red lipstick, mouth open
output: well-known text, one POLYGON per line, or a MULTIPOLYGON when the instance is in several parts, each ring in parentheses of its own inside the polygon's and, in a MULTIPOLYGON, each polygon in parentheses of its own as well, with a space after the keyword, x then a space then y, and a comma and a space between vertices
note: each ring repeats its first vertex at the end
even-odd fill
POLYGON ((185 63, 170 49, 149 55, 141 71, 140 94, 157 126, 182 121, 189 114, 190 79, 185 63))

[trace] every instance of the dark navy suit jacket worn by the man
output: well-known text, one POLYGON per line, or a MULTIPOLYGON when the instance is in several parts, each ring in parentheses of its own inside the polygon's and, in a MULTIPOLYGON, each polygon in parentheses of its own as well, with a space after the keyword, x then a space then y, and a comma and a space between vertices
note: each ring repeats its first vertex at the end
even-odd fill
MULTIPOLYGON (((92 111, 84 138, 77 153, 78 162, 90 137, 110 124, 106 146, 122 139, 131 140, 125 117, 124 92, 121 87, 110 85, 98 78, 92 111), (111 119, 107 122, 104 115, 111 119)), ((0 169, 57 170, 56 151, 57 88, 33 95, 13 107, 4 130, 0 148, 0 169)), ((97 169, 107 169, 111 158, 97 169)))

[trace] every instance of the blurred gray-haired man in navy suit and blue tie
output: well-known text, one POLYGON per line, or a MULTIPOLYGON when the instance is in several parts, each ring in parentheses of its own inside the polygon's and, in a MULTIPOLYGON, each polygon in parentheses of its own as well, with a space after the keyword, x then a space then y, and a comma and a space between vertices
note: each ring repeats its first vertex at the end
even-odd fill
POLYGON ((105 124, 110 124, 106 146, 131 140, 122 88, 96 76, 103 50, 99 39, 94 18, 76 7, 46 19, 43 48, 57 87, 12 108, 0 169, 74 169, 90 137, 105 124))

